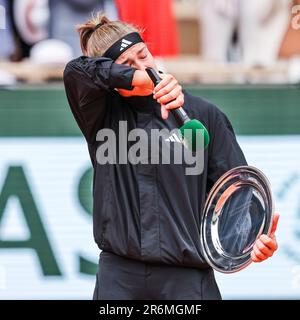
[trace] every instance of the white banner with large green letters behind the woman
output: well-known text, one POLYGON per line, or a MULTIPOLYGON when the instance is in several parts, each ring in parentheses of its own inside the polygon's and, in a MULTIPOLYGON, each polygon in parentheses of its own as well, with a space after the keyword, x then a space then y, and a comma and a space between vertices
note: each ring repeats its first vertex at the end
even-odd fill
MULTIPOLYGON (((279 249, 269 260, 241 272, 216 272, 220 291, 224 299, 299 299, 300 136, 243 136, 238 141, 249 165, 261 169, 271 182, 275 210, 281 215, 279 249)), ((80 181, 91 168, 84 140, 1 138, 0 150, 0 201, 6 199, 5 206, 0 205, 0 299, 91 299, 95 277, 84 274, 79 262, 96 265, 100 252, 92 216, 78 196, 80 181), (16 177, 21 185, 10 180, 16 177), (22 198, 25 189, 29 204, 22 198), (32 237, 36 221, 55 276, 53 268, 47 270, 49 261, 43 264, 44 250, 38 251, 35 240, 26 248, 4 247, 32 237)), ((90 183, 84 188, 90 192, 90 183)))

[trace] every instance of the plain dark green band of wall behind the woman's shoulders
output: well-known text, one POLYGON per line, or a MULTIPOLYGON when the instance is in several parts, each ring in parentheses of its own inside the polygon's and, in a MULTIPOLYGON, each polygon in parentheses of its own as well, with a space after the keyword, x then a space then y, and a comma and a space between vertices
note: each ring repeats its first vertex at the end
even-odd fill
MULTIPOLYGON (((216 104, 239 135, 300 134, 297 86, 188 86, 216 104)), ((64 88, 23 86, 0 90, 0 136, 80 136, 64 88)))

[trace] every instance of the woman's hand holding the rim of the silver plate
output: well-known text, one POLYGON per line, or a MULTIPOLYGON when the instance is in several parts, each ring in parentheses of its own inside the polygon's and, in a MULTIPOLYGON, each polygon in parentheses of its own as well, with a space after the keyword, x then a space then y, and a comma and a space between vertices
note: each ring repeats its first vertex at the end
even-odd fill
POLYGON ((256 241, 251 252, 253 262, 262 262, 278 249, 278 244, 275 237, 275 231, 279 220, 279 213, 275 213, 271 233, 269 236, 263 234, 256 241))

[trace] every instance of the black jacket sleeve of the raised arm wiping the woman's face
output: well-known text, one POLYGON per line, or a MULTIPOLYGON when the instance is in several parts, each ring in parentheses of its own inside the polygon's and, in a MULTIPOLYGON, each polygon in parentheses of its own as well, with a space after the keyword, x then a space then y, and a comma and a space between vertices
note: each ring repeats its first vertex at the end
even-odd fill
POLYGON ((108 94, 114 88, 132 90, 134 72, 103 57, 81 56, 67 64, 63 75, 67 99, 88 143, 103 126, 108 94))

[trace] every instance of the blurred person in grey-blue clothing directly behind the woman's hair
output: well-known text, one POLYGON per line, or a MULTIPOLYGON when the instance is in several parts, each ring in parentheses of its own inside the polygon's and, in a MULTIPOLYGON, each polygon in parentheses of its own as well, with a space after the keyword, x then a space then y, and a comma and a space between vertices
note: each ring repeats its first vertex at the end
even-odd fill
POLYGON ((49 0, 50 37, 69 44, 74 56, 81 53, 74 25, 86 20, 92 11, 102 10, 110 19, 117 19, 113 0, 49 0))

